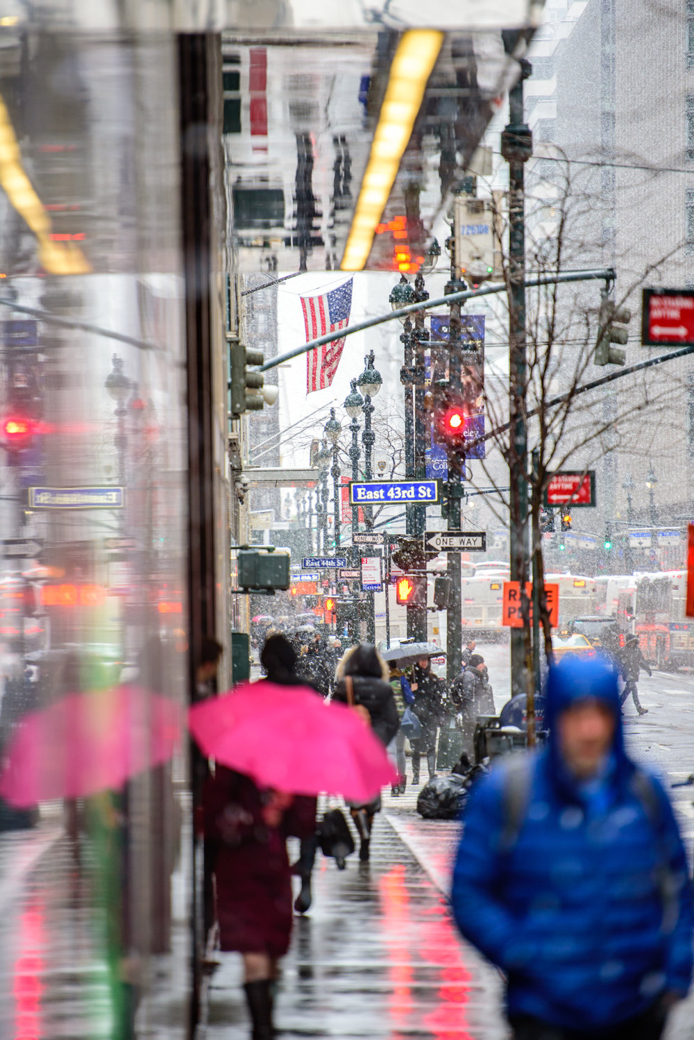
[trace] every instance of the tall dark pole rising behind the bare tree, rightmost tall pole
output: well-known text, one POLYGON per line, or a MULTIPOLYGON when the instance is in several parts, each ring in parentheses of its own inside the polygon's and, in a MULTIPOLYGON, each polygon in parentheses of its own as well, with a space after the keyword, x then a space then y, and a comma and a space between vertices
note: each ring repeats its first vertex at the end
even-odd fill
MULTIPOLYGON (((520 41, 519 32, 505 33, 507 51, 520 41)), ((509 165, 509 420, 511 428, 510 485, 510 576, 519 582, 524 617, 528 620, 528 430, 526 390, 526 226, 525 163, 532 155, 532 134, 524 122, 523 84, 531 66, 520 58, 520 78, 509 93, 509 122, 501 135, 501 152, 509 165)), ((511 696, 527 692, 528 728, 534 723, 534 690, 527 685, 530 661, 528 625, 511 628, 511 696)))

